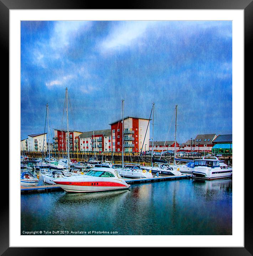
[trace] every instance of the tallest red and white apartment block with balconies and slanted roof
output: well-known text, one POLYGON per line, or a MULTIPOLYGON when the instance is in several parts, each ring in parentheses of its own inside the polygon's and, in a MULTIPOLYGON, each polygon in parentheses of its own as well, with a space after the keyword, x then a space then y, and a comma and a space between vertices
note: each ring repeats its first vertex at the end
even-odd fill
POLYGON ((110 123, 113 152, 122 152, 124 139, 124 152, 140 152, 149 145, 149 119, 138 117, 124 118, 124 132, 122 132, 122 119, 110 123), (123 133, 123 134, 122 134, 123 133))

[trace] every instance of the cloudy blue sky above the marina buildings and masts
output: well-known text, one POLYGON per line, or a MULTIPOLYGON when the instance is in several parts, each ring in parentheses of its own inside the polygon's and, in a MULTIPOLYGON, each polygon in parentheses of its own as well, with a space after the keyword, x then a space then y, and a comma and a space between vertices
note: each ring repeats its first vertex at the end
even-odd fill
MULTIPOLYGON (((232 21, 22 21, 21 139, 51 128, 108 129, 148 118, 154 140, 232 133, 232 21)), ((52 131, 53 132, 53 131, 52 131)))

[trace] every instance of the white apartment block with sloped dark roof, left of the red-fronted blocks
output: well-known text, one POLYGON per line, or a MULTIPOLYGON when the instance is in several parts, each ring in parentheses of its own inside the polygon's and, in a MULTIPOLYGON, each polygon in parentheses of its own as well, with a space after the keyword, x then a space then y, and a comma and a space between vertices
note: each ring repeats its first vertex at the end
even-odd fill
POLYGON ((38 133, 38 134, 28 135, 27 151, 33 151, 33 152, 47 151, 47 133, 38 133))

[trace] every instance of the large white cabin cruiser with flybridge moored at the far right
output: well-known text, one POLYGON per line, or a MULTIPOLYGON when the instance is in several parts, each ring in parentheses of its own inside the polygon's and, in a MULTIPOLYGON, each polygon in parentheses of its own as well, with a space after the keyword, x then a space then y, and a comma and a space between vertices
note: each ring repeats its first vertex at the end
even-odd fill
POLYGON ((193 179, 227 179, 232 177, 232 167, 215 156, 205 156, 194 161, 193 179))

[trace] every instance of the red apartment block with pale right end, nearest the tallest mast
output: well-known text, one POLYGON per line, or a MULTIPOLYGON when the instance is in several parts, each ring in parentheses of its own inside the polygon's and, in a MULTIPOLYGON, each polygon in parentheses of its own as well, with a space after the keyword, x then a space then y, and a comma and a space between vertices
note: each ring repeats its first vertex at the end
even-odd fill
MULTIPOLYGON (((67 150, 67 131, 63 129, 54 129, 53 148, 57 151, 67 150)), ((69 151, 80 151, 79 135, 82 132, 69 131, 69 151)))

